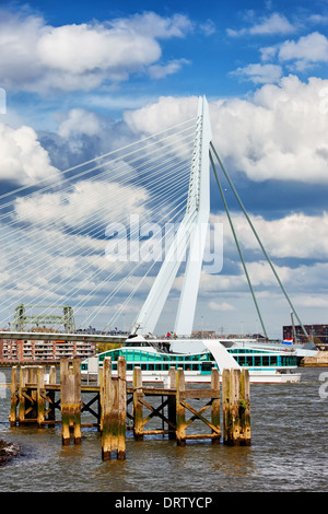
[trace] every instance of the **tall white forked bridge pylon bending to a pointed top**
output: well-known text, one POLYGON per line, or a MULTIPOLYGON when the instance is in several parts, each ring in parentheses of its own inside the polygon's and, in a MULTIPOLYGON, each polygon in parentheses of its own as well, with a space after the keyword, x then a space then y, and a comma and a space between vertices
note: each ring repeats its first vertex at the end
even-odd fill
POLYGON ((181 261, 189 247, 174 331, 192 331, 202 258, 210 215, 210 142, 212 131, 206 97, 199 98, 186 213, 166 252, 150 293, 136 318, 131 334, 153 334, 181 261))

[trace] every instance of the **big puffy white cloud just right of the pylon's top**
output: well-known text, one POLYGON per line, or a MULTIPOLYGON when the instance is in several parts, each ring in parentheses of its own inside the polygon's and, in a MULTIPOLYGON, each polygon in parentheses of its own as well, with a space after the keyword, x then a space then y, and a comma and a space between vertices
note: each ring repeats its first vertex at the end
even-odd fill
POLYGON ((266 84, 248 100, 210 107, 214 144, 233 168, 253 180, 328 183, 328 117, 321 92, 328 81, 295 75, 266 84))

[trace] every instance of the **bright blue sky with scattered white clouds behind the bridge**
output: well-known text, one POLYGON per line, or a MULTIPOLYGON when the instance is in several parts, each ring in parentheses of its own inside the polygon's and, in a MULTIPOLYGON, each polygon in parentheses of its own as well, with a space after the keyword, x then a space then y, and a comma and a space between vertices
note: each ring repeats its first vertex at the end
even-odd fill
MULTIPOLYGON (((197 98, 204 95, 213 144, 302 323, 327 323, 327 0, 206 0, 201 4, 1 0, 0 70, 2 203, 12 189, 25 191, 38 180, 55 180, 60 171, 194 118, 197 98)), ((110 187, 109 202, 110 195, 121 194, 110 187)), ((87 199, 97 188, 106 195, 96 177, 82 184, 66 201, 66 214, 73 220, 84 208, 86 220, 87 199)), ((134 191, 139 200, 147 196, 144 188, 134 191)), ((122 200, 122 215, 136 212, 136 198, 130 203, 122 200)), ((282 326, 291 324, 290 306, 227 187, 226 198, 267 331, 282 337, 282 326)), ((49 208, 55 203, 50 195, 37 199, 19 195, 9 217, 1 218, 5 237, 11 237, 10 221, 21 223, 15 225, 20 246, 12 249, 15 258, 23 259, 19 269, 27 267, 26 253, 40 249, 23 247, 28 242, 33 246, 32 227, 40 209, 55 215, 55 208, 49 208)), ((118 211, 121 208, 117 206, 118 211)), ((211 223, 223 224, 223 267, 216 273, 202 273, 194 328, 219 334, 261 331, 213 177, 211 223)), ((56 236, 49 230, 43 235, 59 246, 48 255, 47 268, 73 273, 80 281, 84 257, 78 250, 61 255, 60 242, 69 233, 67 227, 56 231, 56 236)), ((97 248, 98 256, 104 254, 99 238, 84 243, 94 252, 97 248)), ((17 293, 23 299, 28 292, 34 303, 37 291, 50 289, 56 278, 43 271, 34 283, 32 276, 13 279, 13 261, 3 246, 1 260, 1 305, 9 319, 17 293)), ((95 287, 95 280, 85 281, 85 291, 95 287)), ((159 332, 173 327, 180 284, 179 278, 159 332)), ((149 278, 122 308, 116 322, 119 328, 133 322, 150 285, 149 278)), ((79 323, 86 323, 102 302, 101 291, 83 307, 85 319, 79 323)), ((124 294, 129 293, 127 285, 124 294)), ((74 306, 75 299, 68 294, 62 301, 74 306)), ((124 295, 116 302, 121 305, 124 295)), ((95 322, 97 328, 115 308, 106 305, 102 320, 95 322)))

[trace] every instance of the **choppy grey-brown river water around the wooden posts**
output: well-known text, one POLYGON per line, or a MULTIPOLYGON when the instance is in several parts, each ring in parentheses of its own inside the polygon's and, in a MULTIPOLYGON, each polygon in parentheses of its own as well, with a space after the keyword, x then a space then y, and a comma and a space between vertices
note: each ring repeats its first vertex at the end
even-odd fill
POLYGON ((302 369, 300 384, 251 384, 248 447, 178 447, 159 435, 136 442, 128 432, 125 462, 102 460, 95 429, 82 429, 81 446, 63 447, 60 427, 10 428, 9 396, 0 389, 0 439, 23 455, 0 468, 0 492, 328 491, 328 369, 302 369))

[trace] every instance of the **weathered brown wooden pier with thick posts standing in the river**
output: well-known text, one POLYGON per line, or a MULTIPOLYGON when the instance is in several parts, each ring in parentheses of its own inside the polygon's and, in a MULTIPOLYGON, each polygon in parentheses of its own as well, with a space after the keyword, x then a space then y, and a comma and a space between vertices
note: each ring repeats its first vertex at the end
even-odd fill
POLYGON ((105 359, 97 384, 81 382, 80 359, 73 360, 72 365, 66 359, 60 361, 59 383, 55 366, 50 366, 49 373, 45 366, 13 366, 9 421, 11 427, 60 424, 62 445, 81 444, 82 429, 95 427, 102 435, 103 460, 110 459, 114 453, 117 459, 126 458, 128 429, 137 441, 147 435, 167 435, 179 446, 186 445, 188 440, 249 445, 248 371, 224 370, 221 387, 219 371, 212 369, 209 386, 187 388, 184 371, 174 367, 169 370, 165 387, 145 387, 140 367, 134 369, 133 382, 129 385, 124 358, 118 359, 115 376, 110 359, 105 359), (204 405, 196 408, 198 401, 195 400, 204 405), (60 419, 56 419, 57 411, 60 419), (93 423, 82 422, 85 412, 92 416, 93 423), (148 427, 154 419, 162 423, 160 429, 148 427), (190 431, 196 421, 202 428, 190 431))

